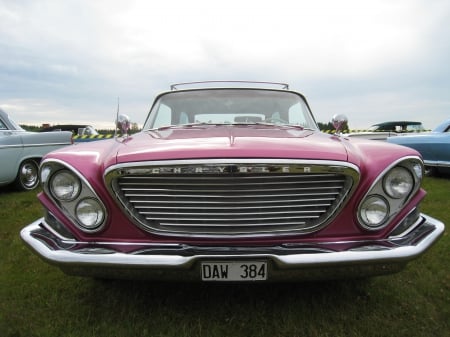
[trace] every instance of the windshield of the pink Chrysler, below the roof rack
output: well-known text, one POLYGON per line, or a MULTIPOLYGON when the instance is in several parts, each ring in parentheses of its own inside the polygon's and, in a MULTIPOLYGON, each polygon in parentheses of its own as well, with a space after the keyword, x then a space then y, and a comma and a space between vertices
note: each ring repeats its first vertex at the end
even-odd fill
POLYGON ((262 89, 203 89, 164 94, 154 104, 144 129, 197 123, 268 123, 317 129, 300 95, 262 89))

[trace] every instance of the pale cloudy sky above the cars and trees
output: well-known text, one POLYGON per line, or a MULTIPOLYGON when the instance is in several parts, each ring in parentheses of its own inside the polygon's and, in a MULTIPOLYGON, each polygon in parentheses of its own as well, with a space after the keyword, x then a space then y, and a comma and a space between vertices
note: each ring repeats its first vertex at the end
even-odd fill
POLYGON ((18 123, 142 125, 170 84, 287 82, 320 122, 450 118, 448 0, 0 0, 0 107, 18 123))

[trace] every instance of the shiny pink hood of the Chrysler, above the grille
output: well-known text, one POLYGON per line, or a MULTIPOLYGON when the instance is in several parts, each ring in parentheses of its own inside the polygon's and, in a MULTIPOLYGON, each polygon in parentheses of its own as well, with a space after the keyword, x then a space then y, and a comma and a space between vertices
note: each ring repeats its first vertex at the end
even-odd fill
POLYGON ((145 131, 118 149, 117 163, 195 158, 303 158, 346 161, 338 137, 296 127, 191 126, 145 131))

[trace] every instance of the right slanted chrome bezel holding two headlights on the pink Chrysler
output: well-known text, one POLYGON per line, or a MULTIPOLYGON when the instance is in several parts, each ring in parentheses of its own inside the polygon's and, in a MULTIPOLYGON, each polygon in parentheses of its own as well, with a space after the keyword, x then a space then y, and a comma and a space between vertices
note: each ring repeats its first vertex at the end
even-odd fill
MULTIPOLYGON (((359 225, 369 231, 382 230, 420 189, 423 178, 423 162, 419 157, 401 158, 387 167, 374 181, 359 203, 357 217, 359 225), (386 215, 376 221, 367 217, 370 200, 380 198, 387 203, 386 215)), ((376 209, 375 206, 374 210, 376 209)))

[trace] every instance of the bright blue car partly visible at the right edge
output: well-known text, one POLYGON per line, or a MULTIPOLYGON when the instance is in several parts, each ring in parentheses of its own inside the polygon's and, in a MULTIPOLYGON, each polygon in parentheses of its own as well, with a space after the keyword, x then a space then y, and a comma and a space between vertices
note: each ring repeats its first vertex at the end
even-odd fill
POLYGON ((431 132, 390 137, 387 141, 419 151, 427 174, 450 173, 450 119, 439 124, 431 132))

